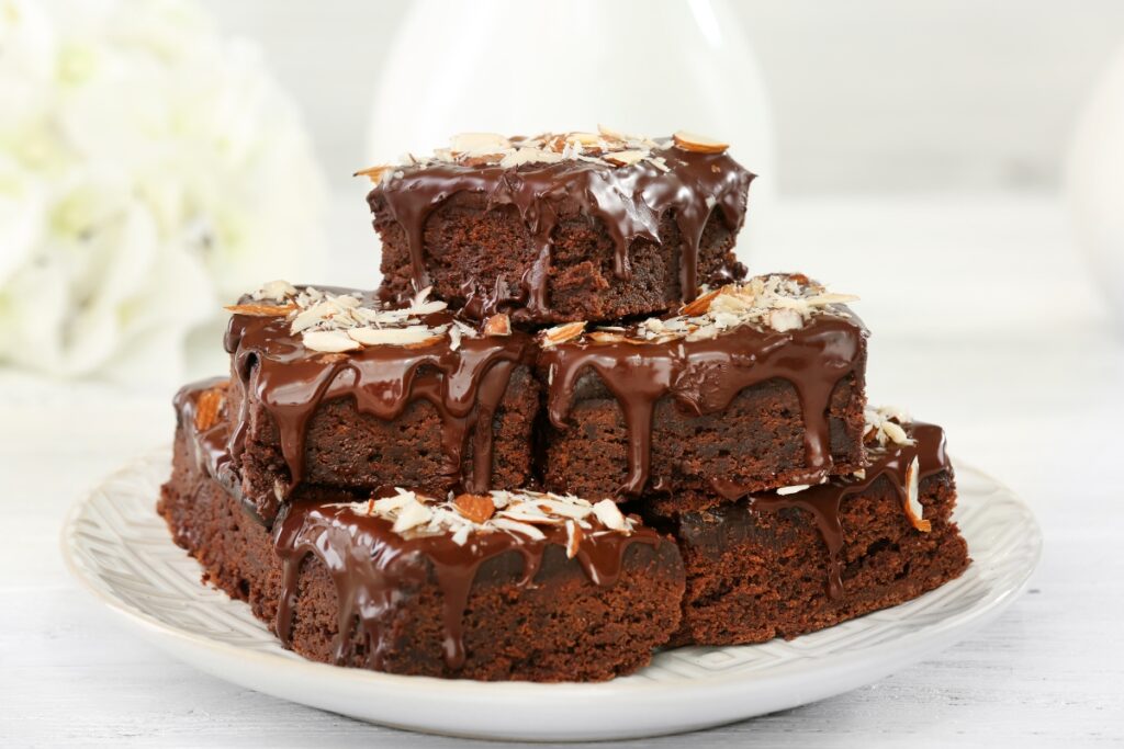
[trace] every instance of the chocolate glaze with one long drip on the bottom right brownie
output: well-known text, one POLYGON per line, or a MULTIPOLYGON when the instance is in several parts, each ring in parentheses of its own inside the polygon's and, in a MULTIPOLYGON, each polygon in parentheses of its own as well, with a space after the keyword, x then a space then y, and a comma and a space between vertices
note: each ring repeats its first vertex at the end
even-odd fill
POLYGON ((914 422, 906 424, 906 433, 914 439, 913 445, 891 445, 871 450, 871 463, 867 467, 864 478, 853 476, 836 476, 825 484, 810 486, 795 494, 754 494, 750 502, 758 512, 777 512, 788 508, 807 510, 816 520, 816 527, 827 547, 827 593, 833 601, 843 597, 843 551, 845 535, 840 521, 840 505, 852 494, 860 494, 886 476, 894 491, 901 500, 905 509, 907 495, 906 471, 913 459, 917 458, 918 478, 924 478, 942 471, 951 471, 948 455, 944 450, 944 430, 934 424, 914 422))

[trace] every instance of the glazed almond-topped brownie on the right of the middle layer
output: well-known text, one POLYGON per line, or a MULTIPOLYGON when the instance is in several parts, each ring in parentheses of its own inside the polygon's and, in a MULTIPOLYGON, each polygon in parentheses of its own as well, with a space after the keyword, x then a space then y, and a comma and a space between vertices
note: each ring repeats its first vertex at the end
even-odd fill
POLYGON ((861 468, 867 330, 850 299, 759 276, 674 317, 543 331, 546 487, 673 513, 861 468))

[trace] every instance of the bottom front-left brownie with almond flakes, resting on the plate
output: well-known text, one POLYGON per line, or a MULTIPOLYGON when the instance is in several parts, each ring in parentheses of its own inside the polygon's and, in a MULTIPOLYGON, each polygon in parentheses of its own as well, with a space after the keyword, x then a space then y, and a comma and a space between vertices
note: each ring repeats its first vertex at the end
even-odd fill
POLYGON ((679 625, 676 544, 613 502, 405 490, 359 501, 318 487, 285 505, 271 533, 198 459, 210 449, 192 421, 180 424, 158 511, 205 581, 312 660, 599 681, 647 664, 679 625))

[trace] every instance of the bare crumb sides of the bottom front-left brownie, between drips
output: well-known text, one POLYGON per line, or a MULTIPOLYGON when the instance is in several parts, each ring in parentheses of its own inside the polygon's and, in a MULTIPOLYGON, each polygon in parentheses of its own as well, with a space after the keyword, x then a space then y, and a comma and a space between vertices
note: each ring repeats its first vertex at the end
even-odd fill
MULTIPOLYGON (((157 510, 175 542, 203 566, 203 582, 246 601, 275 631, 282 567, 273 539, 197 465, 188 430, 181 429, 157 510)), ((382 670, 481 681, 601 681, 646 665, 680 621, 683 569, 671 542, 628 546, 620 579, 611 586, 590 583, 561 547, 547 548, 532 585, 518 584, 523 572, 515 551, 481 564, 463 618, 466 658, 456 673, 443 658, 443 596, 433 575, 404 587, 379 622, 396 634, 382 654, 382 670)), ((339 630, 336 584, 309 555, 297 587, 291 647, 332 663, 339 630)), ((344 665, 365 665, 368 641, 357 620, 352 627, 344 665)))

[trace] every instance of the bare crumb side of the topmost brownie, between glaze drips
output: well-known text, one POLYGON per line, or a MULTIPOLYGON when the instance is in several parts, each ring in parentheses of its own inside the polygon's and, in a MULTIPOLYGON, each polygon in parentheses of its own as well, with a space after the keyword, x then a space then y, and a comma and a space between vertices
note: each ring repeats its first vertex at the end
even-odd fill
MULTIPOLYGON (((382 286, 388 298, 413 290, 413 270, 406 231, 387 210, 384 199, 372 193, 374 228, 382 239, 382 286)), ((577 201, 551 202, 558 226, 552 235, 546 280, 549 311, 533 322, 607 320, 663 312, 685 298, 680 289, 682 234, 674 211, 658 225, 661 243, 634 239, 628 247, 631 277, 614 273, 616 244, 605 223, 586 213, 577 201)), ((713 214, 699 243, 698 283, 724 283, 744 275, 733 253, 735 230, 713 214)), ((518 308, 520 281, 538 259, 536 243, 513 205, 489 205, 479 193, 459 193, 436 208, 423 232, 425 263, 435 294, 453 307, 469 294, 498 296, 518 308), (496 291, 499 290, 497 294, 496 291)), ((695 290, 690 294, 694 295, 695 290)), ((468 311, 474 307, 469 305, 468 311)))

